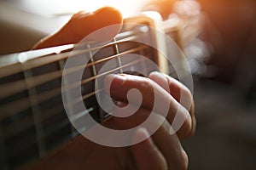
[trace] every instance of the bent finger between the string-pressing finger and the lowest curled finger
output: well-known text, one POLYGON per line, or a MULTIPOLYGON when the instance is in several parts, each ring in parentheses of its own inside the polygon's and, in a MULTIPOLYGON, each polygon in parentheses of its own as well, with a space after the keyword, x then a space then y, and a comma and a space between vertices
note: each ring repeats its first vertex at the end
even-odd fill
MULTIPOLYGON (((119 114, 126 114, 125 112, 120 112, 119 109, 116 109, 115 111, 119 114)), ((129 111, 127 112, 129 113, 129 111)), ((145 109, 139 109, 139 111, 129 117, 113 117, 113 122, 122 129, 131 129, 132 127, 143 126, 143 128, 147 129, 149 134, 153 134, 152 139, 154 140, 154 144, 156 145, 157 149, 160 150, 160 153, 165 157, 167 167, 169 169, 186 169, 188 166, 188 156, 184 152, 177 135, 170 134, 170 130, 172 130, 171 125, 166 122, 165 117, 161 116, 160 114, 152 114, 151 116, 148 116, 150 112, 151 111, 145 109), (141 124, 145 120, 147 120, 147 124, 141 124)), ((137 138, 136 140, 134 139, 134 143, 136 143, 136 141, 141 141, 139 139, 146 138, 141 136, 141 138, 137 138)), ((145 150, 141 148, 140 152, 143 151, 145 150)), ((154 157, 159 156, 158 153, 154 154, 154 157)), ((160 159, 160 156, 158 159, 160 159)), ((143 158, 140 158, 139 160, 143 161, 143 158)), ((162 163, 164 162, 161 161, 161 165, 162 163)))

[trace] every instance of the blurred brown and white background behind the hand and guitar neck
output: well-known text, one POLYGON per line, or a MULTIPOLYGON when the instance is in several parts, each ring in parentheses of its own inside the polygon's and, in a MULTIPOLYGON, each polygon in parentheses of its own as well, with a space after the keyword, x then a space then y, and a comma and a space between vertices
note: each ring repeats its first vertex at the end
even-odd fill
POLYGON ((183 146, 189 169, 256 167, 256 1, 1 0, 0 54, 26 51, 70 14, 104 5, 124 16, 155 10, 183 25, 180 39, 194 74, 197 131, 183 146), (134 5, 137 4, 137 5, 134 5))

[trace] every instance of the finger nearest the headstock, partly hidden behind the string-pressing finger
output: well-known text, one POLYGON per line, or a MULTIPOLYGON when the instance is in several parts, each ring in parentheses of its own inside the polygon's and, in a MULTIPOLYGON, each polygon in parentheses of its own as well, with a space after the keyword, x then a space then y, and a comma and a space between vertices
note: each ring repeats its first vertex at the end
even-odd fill
POLYGON ((157 71, 150 73, 148 78, 158 83, 160 87, 166 90, 166 92, 172 94, 173 98, 176 99, 177 102, 179 102, 189 111, 192 119, 192 127, 188 136, 193 135, 195 133, 196 126, 194 111, 195 104, 189 88, 185 87, 181 82, 178 82, 176 79, 157 71))

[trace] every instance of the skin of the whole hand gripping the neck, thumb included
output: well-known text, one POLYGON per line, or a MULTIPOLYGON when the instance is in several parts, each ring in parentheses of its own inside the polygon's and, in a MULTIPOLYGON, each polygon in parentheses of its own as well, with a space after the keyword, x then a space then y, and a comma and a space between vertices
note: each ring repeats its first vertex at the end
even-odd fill
MULTIPOLYGON (((110 7, 100 8, 95 13, 84 14, 80 12, 74 14, 71 20, 55 34, 44 38, 38 42, 34 48, 47 48, 68 43, 79 42, 83 37, 103 26, 121 24, 122 16, 118 10, 110 7), (109 17, 111 15, 111 17, 109 17), (106 18, 108 16, 108 18, 106 18), (89 17, 89 19, 88 19, 89 17), (91 20, 98 21, 97 26, 92 26, 91 20), (88 29, 87 29, 88 28, 88 29)), ((116 31, 118 33, 119 30, 116 31)), ((111 35, 114 36, 114 35, 111 35)), ((131 75, 109 75, 114 77, 111 83, 111 97, 125 104, 126 93, 131 88, 137 88, 147 96, 143 99, 141 109, 132 116, 125 118, 113 117, 105 122, 106 127, 113 129, 129 128, 143 122, 150 114, 152 94, 148 93, 153 89, 159 92, 162 99, 170 103, 170 111, 166 121, 160 125, 160 128, 150 137, 146 127, 140 127, 134 133, 131 140, 144 139, 139 144, 127 147, 107 147, 95 144, 83 136, 78 136, 70 143, 66 144, 61 150, 46 156, 43 161, 38 161, 29 169, 186 169, 188 166, 188 156, 183 150, 179 139, 189 137, 195 133, 195 116, 193 98, 188 88, 185 88, 180 82, 172 77, 153 72, 149 77, 136 77, 131 75), (163 85, 167 82, 170 92, 163 85), (181 105, 179 103, 180 94, 186 95, 190 105, 181 105), (177 107, 183 108, 180 114, 186 117, 183 126, 177 131, 177 134, 171 135, 173 117, 177 107)), ((115 111, 119 114, 118 109, 115 111)), ((161 111, 154 115, 153 124, 159 124, 163 117, 161 111)))

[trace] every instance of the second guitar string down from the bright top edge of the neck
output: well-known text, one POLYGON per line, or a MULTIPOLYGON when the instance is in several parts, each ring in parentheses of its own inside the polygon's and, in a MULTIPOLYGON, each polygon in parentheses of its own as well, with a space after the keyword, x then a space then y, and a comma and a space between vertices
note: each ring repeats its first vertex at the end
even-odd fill
MULTIPOLYGON (((137 52, 139 50, 142 50, 143 48, 146 48, 146 47, 141 46, 141 47, 138 47, 138 48, 132 48, 132 49, 127 50, 127 51, 125 51, 121 54, 134 53, 134 52, 137 52)), ((89 66, 92 66, 92 65, 100 64, 100 63, 102 63, 102 62, 104 62, 108 59, 113 59, 113 58, 116 58, 118 56, 119 55, 115 54, 115 55, 109 56, 109 57, 104 58, 104 59, 96 60, 95 62, 92 62, 92 63, 89 63, 88 65, 86 65, 85 68, 89 67, 89 66)), ((74 71, 79 71, 81 69, 84 69, 84 65, 77 66, 75 68, 70 68, 65 73, 69 74, 69 73, 72 73, 74 71)), ((29 83, 30 87, 28 87, 28 88, 33 88, 33 87, 38 86, 40 84, 55 80, 56 78, 61 77, 62 74, 63 74, 62 71, 55 71, 55 72, 50 72, 50 73, 40 75, 40 76, 37 76, 37 77, 29 77, 27 81, 29 81, 31 83, 29 83)), ((1 95, 2 98, 4 98, 4 97, 7 97, 7 96, 12 95, 12 94, 22 92, 22 91, 26 90, 26 88, 27 88, 26 81, 24 81, 24 80, 20 80, 20 81, 17 81, 17 82, 10 82, 8 84, 0 86, 0 95, 1 95)))

